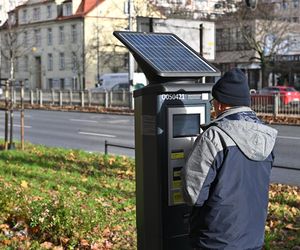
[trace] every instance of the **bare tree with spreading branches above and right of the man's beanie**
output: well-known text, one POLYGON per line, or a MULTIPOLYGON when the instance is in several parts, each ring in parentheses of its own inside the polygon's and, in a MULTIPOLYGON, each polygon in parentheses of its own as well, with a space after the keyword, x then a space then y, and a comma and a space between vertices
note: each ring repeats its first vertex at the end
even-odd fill
POLYGON ((274 7, 260 3, 255 11, 251 11, 241 5, 236 13, 219 20, 237 26, 239 36, 247 45, 246 50, 254 52, 249 57, 245 50, 241 57, 260 64, 263 87, 266 86, 267 73, 272 69, 274 58, 290 46, 289 35, 292 32, 291 23, 274 7))

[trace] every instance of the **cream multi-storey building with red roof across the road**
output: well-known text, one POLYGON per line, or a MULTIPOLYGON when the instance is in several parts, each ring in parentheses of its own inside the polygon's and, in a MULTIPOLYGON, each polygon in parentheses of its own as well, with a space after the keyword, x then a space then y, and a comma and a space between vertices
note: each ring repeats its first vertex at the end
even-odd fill
POLYGON ((0 78, 28 89, 87 89, 108 72, 125 72, 128 51, 114 30, 128 28, 126 0, 28 0, 0 29, 0 78))

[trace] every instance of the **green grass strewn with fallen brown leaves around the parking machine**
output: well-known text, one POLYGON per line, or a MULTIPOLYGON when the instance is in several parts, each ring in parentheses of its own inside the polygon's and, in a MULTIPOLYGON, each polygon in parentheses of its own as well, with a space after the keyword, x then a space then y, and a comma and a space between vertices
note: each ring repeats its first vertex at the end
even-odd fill
MULTIPOLYGON (((300 188, 272 185, 270 201, 265 249, 298 249, 300 188)), ((136 249, 133 160, 0 151, 0 249, 136 249)))

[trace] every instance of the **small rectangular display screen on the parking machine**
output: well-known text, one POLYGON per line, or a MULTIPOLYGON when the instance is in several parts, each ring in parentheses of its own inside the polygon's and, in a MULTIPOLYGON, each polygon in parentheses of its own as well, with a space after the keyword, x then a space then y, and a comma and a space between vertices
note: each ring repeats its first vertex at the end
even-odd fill
POLYGON ((174 114, 173 138, 197 136, 200 133, 200 114, 174 114))

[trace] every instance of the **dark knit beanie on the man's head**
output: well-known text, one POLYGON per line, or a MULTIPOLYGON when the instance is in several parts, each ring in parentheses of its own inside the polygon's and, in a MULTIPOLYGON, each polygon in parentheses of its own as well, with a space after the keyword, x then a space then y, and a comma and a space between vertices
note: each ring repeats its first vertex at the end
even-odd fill
POLYGON ((231 106, 250 106, 250 91, 246 75, 238 68, 226 72, 213 86, 212 96, 231 106))

